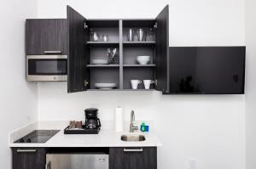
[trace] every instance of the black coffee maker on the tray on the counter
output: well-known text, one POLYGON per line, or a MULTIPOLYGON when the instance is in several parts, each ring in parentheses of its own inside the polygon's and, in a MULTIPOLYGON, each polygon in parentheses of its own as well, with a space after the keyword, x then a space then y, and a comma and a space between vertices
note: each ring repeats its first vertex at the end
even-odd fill
POLYGON ((100 119, 97 117, 98 110, 90 108, 84 110, 85 113, 85 128, 100 130, 102 127, 100 119))

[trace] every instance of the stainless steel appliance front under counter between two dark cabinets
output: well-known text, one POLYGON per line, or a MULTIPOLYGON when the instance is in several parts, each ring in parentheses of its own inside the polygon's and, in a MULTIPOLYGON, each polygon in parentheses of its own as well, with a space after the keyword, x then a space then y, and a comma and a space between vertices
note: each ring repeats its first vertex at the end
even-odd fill
POLYGON ((108 169, 108 155, 47 154, 45 169, 108 169))

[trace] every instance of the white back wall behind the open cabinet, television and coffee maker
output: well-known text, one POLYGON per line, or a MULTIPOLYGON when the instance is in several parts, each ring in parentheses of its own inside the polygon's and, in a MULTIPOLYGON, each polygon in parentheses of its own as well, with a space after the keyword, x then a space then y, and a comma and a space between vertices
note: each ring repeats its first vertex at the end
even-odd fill
MULTIPOLYGON (((170 44, 244 45, 243 0, 38 0, 39 18, 64 18, 66 5, 86 18, 154 18, 170 5, 170 44)), ((39 119, 84 118, 83 110, 97 107, 100 118, 113 119, 117 105, 125 118, 156 124, 164 144, 159 149, 160 169, 245 168, 245 99, 243 95, 162 96, 158 92, 86 92, 67 94, 66 82, 39 84, 39 119)))

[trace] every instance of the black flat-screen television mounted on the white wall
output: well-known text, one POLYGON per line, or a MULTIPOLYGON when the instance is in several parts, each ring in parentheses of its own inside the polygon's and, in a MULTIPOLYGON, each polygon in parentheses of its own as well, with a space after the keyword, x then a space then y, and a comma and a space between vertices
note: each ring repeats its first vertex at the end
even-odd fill
POLYGON ((243 94, 245 47, 170 47, 171 94, 243 94))

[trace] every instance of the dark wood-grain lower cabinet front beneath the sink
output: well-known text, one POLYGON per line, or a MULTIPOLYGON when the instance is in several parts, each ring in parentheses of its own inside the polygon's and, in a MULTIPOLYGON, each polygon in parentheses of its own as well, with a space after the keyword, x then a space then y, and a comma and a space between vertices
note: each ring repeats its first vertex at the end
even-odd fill
POLYGON ((110 148, 109 169, 156 169, 156 147, 110 148))

